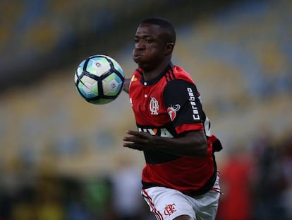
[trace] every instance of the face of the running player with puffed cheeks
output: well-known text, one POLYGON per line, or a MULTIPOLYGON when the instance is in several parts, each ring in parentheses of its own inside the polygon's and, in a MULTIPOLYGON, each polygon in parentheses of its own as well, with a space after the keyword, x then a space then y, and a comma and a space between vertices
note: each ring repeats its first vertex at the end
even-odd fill
POLYGON ((135 34, 133 60, 144 71, 155 69, 166 59, 165 33, 159 25, 140 24, 135 34))

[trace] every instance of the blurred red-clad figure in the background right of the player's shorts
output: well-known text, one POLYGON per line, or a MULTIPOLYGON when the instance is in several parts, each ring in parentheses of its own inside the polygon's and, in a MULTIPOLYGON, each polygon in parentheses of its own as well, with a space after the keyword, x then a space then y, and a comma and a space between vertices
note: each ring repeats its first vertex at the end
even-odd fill
POLYGON ((243 144, 229 151, 220 166, 221 190, 217 220, 253 219, 253 158, 243 149, 243 144))

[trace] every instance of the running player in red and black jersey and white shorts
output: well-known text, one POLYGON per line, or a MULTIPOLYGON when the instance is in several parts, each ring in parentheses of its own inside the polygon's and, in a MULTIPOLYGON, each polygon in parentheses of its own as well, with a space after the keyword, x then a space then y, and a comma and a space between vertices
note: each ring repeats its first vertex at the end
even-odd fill
POLYGON ((157 219, 215 219, 219 172, 200 94, 190 75, 171 63, 174 26, 147 18, 135 33, 138 64, 123 90, 129 93, 138 132, 128 131, 123 146, 143 151, 142 196, 157 219))

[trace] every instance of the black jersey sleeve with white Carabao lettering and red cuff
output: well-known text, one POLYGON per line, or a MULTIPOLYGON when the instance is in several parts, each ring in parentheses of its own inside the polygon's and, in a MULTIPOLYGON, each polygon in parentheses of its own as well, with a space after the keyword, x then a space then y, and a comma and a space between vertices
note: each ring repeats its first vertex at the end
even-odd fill
POLYGON ((170 81, 165 86, 164 104, 178 134, 204 129, 205 113, 198 94, 194 83, 181 79, 170 81))

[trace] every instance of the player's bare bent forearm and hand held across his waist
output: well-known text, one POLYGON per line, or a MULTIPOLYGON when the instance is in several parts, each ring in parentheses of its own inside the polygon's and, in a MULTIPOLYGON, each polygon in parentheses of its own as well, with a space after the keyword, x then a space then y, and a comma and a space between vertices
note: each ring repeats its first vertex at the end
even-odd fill
POLYGON ((143 151, 146 149, 164 151, 179 156, 204 157, 207 155, 207 139, 202 130, 190 131, 184 137, 168 138, 148 134, 147 132, 128 131, 130 136, 123 146, 143 151))

